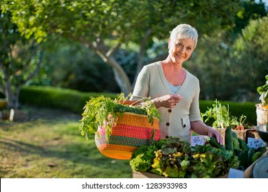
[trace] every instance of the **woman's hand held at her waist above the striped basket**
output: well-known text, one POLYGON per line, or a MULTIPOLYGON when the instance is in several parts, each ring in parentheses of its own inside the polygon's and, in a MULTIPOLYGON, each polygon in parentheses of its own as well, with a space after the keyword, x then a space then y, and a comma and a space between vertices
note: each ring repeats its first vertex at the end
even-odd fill
POLYGON ((181 99, 183 99, 181 95, 164 95, 153 99, 153 104, 155 104, 156 108, 174 108, 181 99))

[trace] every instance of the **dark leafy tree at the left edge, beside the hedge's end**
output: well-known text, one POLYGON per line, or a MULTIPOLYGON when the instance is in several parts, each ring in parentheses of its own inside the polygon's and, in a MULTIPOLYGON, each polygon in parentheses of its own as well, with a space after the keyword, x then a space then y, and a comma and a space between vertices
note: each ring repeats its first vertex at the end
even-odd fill
POLYGON ((0 91, 8 108, 19 108, 21 86, 38 73, 43 51, 34 38, 25 39, 11 21, 10 12, 0 10, 0 91))

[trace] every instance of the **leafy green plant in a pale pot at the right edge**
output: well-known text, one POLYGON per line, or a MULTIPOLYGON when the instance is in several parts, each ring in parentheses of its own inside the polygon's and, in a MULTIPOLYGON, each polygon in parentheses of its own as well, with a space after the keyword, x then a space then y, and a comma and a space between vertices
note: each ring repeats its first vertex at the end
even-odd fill
POLYGON ((265 76, 266 82, 263 86, 258 86, 257 91, 260 94, 260 104, 256 104, 257 124, 268 123, 268 75, 265 76))

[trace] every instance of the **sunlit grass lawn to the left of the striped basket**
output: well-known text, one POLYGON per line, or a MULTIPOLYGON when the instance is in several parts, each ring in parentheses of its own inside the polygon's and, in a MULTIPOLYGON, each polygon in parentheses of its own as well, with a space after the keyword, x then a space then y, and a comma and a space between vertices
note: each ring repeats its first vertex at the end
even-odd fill
POLYGON ((80 135, 80 115, 24 108, 29 121, 0 121, 0 178, 132 177, 129 160, 103 156, 80 135))

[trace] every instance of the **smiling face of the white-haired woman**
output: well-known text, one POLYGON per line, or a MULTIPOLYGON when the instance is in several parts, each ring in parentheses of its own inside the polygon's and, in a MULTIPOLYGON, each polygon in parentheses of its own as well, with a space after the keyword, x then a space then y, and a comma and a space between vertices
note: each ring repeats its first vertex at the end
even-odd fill
POLYGON ((182 64, 192 55, 194 51, 194 40, 191 38, 177 39, 175 42, 170 38, 168 40, 169 57, 172 62, 182 64))

